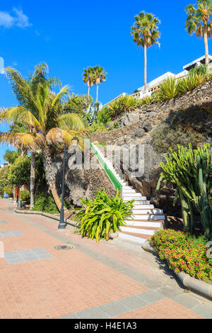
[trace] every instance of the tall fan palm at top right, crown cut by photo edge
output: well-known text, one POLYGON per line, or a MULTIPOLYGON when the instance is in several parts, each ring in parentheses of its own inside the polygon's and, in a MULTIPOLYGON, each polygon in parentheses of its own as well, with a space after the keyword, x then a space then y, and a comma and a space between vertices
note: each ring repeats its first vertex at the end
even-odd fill
POLYGON ((196 37, 204 38, 205 64, 208 67, 208 38, 212 36, 212 1, 197 0, 196 8, 190 4, 186 7, 185 11, 188 15, 185 28, 189 35, 196 33, 196 37))

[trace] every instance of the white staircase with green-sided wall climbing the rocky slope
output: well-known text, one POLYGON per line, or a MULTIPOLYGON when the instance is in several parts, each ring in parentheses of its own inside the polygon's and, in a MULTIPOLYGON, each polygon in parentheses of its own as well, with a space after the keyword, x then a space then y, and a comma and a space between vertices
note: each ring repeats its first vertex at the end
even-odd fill
POLYGON ((112 162, 105 158, 96 145, 93 146, 122 185, 122 198, 124 202, 134 200, 133 215, 125 221, 126 226, 120 227, 119 239, 137 244, 146 242, 146 239, 150 239, 155 231, 163 228, 163 221, 165 220, 163 210, 154 208, 154 205, 151 205, 150 201, 146 200, 146 196, 142 196, 133 186, 127 186, 114 169, 112 162))

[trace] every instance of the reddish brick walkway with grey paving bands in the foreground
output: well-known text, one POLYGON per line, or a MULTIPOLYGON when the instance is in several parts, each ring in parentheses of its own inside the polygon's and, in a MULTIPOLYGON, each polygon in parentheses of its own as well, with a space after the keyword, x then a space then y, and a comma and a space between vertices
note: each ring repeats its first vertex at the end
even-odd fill
POLYGON ((0 199, 0 318, 212 318, 211 301, 184 290, 156 256, 13 209, 0 199))

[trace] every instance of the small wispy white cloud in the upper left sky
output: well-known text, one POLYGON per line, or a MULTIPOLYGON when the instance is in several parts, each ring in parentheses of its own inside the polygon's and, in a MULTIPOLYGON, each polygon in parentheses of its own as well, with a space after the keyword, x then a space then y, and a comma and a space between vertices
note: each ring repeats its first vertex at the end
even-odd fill
POLYGON ((27 28, 32 24, 29 23, 29 18, 23 13, 22 9, 13 8, 13 15, 6 11, 0 11, 0 26, 4 28, 13 28, 14 26, 27 28))

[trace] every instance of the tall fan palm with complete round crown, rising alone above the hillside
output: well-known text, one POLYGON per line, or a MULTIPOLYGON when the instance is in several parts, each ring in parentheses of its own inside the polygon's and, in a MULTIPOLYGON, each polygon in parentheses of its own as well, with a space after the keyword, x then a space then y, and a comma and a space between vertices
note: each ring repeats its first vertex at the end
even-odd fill
POLYGON ((136 22, 134 23, 134 26, 131 27, 130 35, 133 36, 134 43, 136 43, 138 47, 142 46, 144 49, 144 90, 146 91, 146 50, 148 49, 148 47, 153 46, 155 43, 158 44, 160 47, 160 43, 158 43, 158 38, 160 38, 158 24, 160 23, 160 21, 153 14, 146 13, 145 11, 141 11, 139 15, 136 15, 135 20, 136 22))

